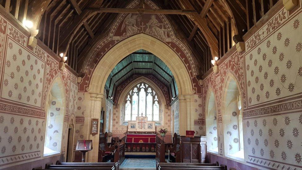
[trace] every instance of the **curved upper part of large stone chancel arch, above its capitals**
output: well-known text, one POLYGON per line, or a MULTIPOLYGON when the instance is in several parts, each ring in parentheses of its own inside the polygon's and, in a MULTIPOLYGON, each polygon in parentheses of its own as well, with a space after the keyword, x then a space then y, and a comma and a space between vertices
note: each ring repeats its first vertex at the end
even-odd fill
POLYGON ((166 63, 174 75, 179 95, 193 94, 191 77, 182 59, 168 45, 144 33, 124 39, 103 56, 91 76, 88 92, 101 93, 114 66, 125 56, 140 49, 153 53, 166 63))

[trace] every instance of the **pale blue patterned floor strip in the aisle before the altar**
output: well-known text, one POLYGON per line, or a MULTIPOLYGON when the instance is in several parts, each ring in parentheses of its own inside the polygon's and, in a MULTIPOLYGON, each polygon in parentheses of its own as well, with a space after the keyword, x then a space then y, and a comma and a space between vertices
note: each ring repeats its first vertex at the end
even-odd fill
POLYGON ((121 170, 153 170, 156 169, 155 159, 125 159, 120 166, 121 170))

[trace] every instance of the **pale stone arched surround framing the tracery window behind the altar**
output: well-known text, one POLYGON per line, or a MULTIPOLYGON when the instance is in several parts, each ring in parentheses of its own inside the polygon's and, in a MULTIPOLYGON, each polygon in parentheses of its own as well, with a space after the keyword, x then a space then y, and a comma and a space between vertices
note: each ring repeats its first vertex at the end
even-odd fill
POLYGON ((122 107, 120 107, 120 113, 121 113, 121 118, 120 118, 120 124, 124 123, 124 105, 125 105, 125 98, 128 95, 128 92, 132 89, 133 86, 135 86, 136 84, 139 84, 141 82, 147 83, 148 85, 151 85, 153 87, 153 89, 157 92, 157 97, 158 97, 158 101, 159 101, 159 122, 160 124, 163 124, 164 121, 164 116, 163 116, 163 108, 165 107, 165 105, 167 105, 166 100, 164 98, 164 94, 162 92, 162 89, 155 84, 152 80, 150 80, 149 78, 145 77, 145 76, 140 76, 136 79, 134 79, 131 83, 129 83, 125 89, 122 91, 122 94, 119 97, 118 100, 118 104, 122 107))

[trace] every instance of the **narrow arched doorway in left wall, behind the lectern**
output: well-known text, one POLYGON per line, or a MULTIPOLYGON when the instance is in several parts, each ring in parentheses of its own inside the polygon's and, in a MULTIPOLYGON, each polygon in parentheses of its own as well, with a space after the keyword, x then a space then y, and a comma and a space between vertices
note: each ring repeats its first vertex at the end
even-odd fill
POLYGON ((66 162, 74 161, 74 136, 75 136, 75 127, 76 127, 76 117, 74 114, 69 116, 68 126, 67 126, 67 150, 66 150, 66 162))

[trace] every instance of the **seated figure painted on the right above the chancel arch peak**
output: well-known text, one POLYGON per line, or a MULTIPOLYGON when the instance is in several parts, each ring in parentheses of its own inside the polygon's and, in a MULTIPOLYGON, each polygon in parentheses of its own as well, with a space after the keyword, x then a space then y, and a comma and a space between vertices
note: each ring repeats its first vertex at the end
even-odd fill
POLYGON ((164 24, 159 23, 155 15, 151 15, 151 19, 149 20, 149 23, 147 23, 148 28, 146 32, 149 32, 150 34, 158 37, 161 40, 165 40, 166 35, 164 34, 163 27, 159 28, 161 25, 163 26, 164 24))

